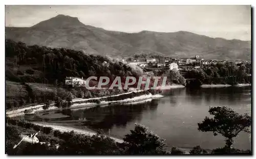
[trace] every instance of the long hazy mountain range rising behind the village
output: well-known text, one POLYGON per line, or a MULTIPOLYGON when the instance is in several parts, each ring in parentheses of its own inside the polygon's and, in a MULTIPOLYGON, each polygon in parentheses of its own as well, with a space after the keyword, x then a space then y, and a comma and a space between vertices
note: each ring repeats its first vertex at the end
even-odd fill
POLYGON ((184 31, 106 31, 66 15, 57 15, 30 28, 6 27, 6 38, 28 45, 66 47, 94 55, 127 57, 145 53, 178 57, 200 55, 204 59, 251 59, 251 41, 210 38, 184 31))

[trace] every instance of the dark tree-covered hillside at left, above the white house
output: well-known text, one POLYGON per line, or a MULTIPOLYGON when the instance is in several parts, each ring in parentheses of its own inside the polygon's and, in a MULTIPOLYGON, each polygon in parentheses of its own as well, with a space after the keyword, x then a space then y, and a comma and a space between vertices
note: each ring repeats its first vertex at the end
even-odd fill
POLYGON ((139 75, 131 67, 108 57, 84 55, 66 48, 28 46, 9 39, 6 40, 6 59, 6 78, 15 82, 63 84, 67 76, 109 76, 113 81, 115 76, 125 80, 125 76, 139 75))

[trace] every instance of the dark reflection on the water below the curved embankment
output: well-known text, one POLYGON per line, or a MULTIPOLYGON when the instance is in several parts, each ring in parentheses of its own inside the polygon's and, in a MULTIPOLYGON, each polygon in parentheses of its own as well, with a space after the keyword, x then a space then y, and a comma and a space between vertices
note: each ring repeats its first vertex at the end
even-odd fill
POLYGON ((139 104, 124 104, 124 105, 108 105, 107 107, 94 107, 84 110, 75 110, 69 112, 73 119, 86 118, 83 122, 93 129, 101 128, 105 131, 113 126, 125 127, 127 122, 133 120, 141 121, 143 112, 157 110, 158 99, 153 99, 150 102, 139 104))

